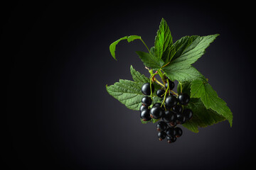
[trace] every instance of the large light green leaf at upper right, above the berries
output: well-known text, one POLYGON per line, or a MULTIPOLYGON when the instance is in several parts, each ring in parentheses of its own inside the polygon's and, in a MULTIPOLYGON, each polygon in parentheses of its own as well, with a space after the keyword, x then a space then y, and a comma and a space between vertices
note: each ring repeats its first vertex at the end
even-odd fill
POLYGON ((218 34, 200 37, 193 35, 186 36, 178 40, 173 45, 171 62, 163 69, 169 79, 178 81, 193 81, 201 79, 206 81, 205 77, 191 66, 199 57, 201 57, 206 47, 213 42, 218 34))

